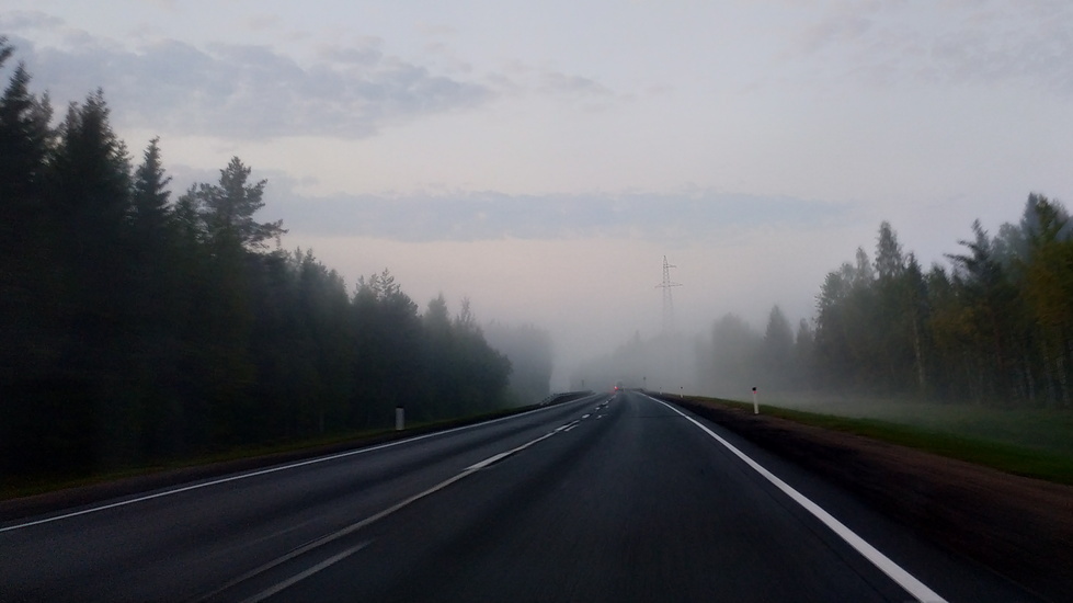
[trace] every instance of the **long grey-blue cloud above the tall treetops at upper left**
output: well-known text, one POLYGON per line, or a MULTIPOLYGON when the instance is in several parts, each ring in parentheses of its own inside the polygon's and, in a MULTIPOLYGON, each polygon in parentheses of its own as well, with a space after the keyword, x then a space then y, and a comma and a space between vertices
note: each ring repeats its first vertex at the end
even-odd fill
POLYGON ((62 102, 103 88, 121 127, 164 134, 362 138, 495 95, 487 84, 437 75, 376 45, 328 48, 303 65, 270 46, 203 49, 163 39, 129 50, 85 32, 65 37, 62 48, 13 39, 38 89, 62 102))

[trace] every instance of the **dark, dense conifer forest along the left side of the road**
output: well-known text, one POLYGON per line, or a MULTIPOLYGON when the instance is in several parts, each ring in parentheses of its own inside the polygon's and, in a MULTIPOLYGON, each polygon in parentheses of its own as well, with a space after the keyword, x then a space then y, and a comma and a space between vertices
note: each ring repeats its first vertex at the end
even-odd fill
MULTIPOLYGON (((13 48, 0 38, 0 67, 13 48)), ((259 221, 233 158, 178 197, 101 91, 54 118, 22 65, 0 98, 0 473, 76 476, 498 408, 511 363, 464 303, 384 271, 347 291, 259 221)), ((547 387, 547 376, 545 387, 547 387)))

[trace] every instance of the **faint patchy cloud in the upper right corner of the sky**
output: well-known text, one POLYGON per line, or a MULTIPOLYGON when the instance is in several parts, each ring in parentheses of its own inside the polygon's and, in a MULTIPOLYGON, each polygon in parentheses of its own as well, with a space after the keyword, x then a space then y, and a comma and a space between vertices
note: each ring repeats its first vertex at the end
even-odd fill
POLYGON ((789 54, 834 80, 1019 83, 1073 94, 1065 1, 841 2, 803 14, 809 24, 789 54))

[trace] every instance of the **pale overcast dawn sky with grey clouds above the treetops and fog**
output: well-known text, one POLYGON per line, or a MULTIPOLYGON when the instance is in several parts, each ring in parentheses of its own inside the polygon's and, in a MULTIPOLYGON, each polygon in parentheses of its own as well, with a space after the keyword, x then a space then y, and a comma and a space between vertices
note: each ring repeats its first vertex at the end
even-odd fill
POLYGON ((664 254, 683 329, 763 328, 883 219, 927 265, 1073 191, 1068 0, 4 0, 0 34, 176 183, 237 155, 285 246, 563 366, 658 331, 664 254))

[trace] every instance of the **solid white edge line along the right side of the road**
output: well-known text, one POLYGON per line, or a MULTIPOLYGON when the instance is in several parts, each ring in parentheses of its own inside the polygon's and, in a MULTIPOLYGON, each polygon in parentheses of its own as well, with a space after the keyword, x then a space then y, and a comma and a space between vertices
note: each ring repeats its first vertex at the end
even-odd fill
POLYGON ((804 494, 795 490, 790 485, 786 483, 781 479, 775 476, 775 474, 768 471, 760 463, 756 463, 752 458, 745 456, 745 453, 739 451, 731 444, 727 442, 718 434, 716 434, 710 429, 703 425, 699 421, 689 417, 688 414, 682 412, 681 410, 674 408, 673 406, 664 402, 663 400, 657 400, 651 396, 646 396, 648 399, 660 402, 661 405, 670 408, 674 412, 677 412, 686 420, 697 425, 705 433, 714 437, 717 442, 727 447, 731 453, 738 458, 745 462, 746 465, 752 467, 756 473, 767 478, 768 481, 775 485, 776 488, 786 493, 786 496, 794 499, 795 502, 804 508, 806 511, 812 513, 818 520, 823 522, 824 525, 831 528, 832 532, 837 534, 843 541, 845 541, 849 546, 854 547, 857 553, 864 556, 866 559, 871 561, 874 566, 880 569, 883 573, 890 577, 891 580, 898 583, 901 588, 905 589, 911 595, 916 598, 917 601, 922 603, 946 603, 946 600, 939 596, 935 591, 927 588, 923 582, 917 580, 913 574, 902 569, 901 566, 892 561, 889 557, 879 551, 876 547, 868 544, 864 538, 858 536, 854 531, 846 527, 845 524, 834 519, 831 513, 827 513, 822 507, 812 502, 810 499, 806 498, 804 494))

